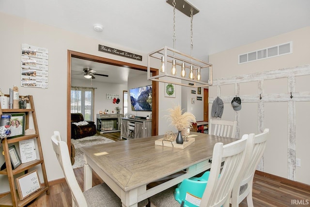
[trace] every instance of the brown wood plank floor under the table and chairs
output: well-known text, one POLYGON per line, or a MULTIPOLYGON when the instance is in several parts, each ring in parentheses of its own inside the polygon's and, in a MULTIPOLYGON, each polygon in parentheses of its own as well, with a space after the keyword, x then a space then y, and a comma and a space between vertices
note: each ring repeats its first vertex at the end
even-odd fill
MULTIPOLYGON (((120 133, 105 133, 103 136, 120 141, 120 133), (118 137, 118 138, 117 138, 118 137)), ((74 169, 79 186, 83 189, 83 168, 74 169)), ((102 182, 102 179, 93 173, 93 186, 102 182)), ((298 184, 298 183, 297 183, 298 184)), ((50 195, 43 194, 34 200, 28 207, 71 207, 71 194, 65 181, 50 185, 50 195)), ((310 186, 294 185, 286 179, 274 179, 268 176, 254 175, 253 180, 254 207, 306 207, 310 206, 310 186)), ((244 200, 240 207, 247 207, 244 200)))

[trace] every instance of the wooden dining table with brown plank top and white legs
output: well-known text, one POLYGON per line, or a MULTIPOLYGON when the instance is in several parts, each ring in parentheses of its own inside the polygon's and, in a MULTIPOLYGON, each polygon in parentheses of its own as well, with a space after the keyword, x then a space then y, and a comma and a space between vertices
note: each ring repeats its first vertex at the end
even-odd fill
POLYGON ((164 135, 81 147, 84 153, 84 191, 92 188, 92 171, 121 198, 123 207, 164 191, 183 179, 210 169, 215 143, 233 138, 190 132, 195 141, 184 149, 155 145, 164 135), (179 176, 153 188, 147 185, 178 172, 179 176))

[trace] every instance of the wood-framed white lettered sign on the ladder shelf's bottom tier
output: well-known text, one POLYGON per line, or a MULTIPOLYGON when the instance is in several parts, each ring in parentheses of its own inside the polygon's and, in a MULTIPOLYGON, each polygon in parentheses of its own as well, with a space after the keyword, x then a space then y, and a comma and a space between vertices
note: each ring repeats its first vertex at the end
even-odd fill
POLYGON ((41 183, 37 170, 34 170, 26 175, 16 178, 17 191, 19 199, 23 200, 32 193, 41 189, 41 183))

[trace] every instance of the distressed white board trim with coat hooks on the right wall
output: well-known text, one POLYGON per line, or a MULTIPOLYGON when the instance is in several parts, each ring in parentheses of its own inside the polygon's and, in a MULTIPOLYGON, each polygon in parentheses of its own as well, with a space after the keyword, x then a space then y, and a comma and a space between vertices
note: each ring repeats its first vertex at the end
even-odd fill
MULTIPOLYGON (((242 103, 258 103, 258 132, 264 129, 264 103, 265 102, 287 102, 288 103, 288 149, 287 149, 287 175, 288 179, 295 180, 296 176, 296 102, 310 101, 310 91, 296 91, 296 77, 310 75, 310 65, 297 66, 292 68, 283 68, 279 70, 265 71, 254 74, 246 74, 229 78, 213 80, 213 86, 217 86, 217 96, 224 103, 231 103, 235 96, 240 95, 240 83, 257 81, 258 93, 242 95, 242 103), (276 80, 287 78, 288 93, 264 94, 264 80, 276 80), (231 96, 221 96, 221 86, 234 84, 235 93, 231 96)), ((209 103, 212 105, 216 97, 209 97, 209 103)), ((235 120, 238 121, 236 137, 240 137, 240 111, 235 111, 235 120)), ((258 165, 258 170, 263 171, 264 160, 258 165)))

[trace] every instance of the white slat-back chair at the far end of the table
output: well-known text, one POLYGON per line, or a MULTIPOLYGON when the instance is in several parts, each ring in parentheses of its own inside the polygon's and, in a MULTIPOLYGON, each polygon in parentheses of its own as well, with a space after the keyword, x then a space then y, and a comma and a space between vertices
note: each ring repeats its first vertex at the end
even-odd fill
POLYGON ((236 130, 237 121, 210 119, 208 124, 208 134, 221 137, 235 138, 236 130))

